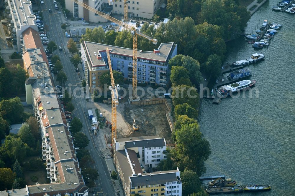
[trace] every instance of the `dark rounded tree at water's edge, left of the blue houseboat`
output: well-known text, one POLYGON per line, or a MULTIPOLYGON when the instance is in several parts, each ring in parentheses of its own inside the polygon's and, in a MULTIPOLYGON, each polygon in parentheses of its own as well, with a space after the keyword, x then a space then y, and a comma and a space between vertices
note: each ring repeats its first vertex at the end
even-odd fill
POLYGON ((207 62, 204 65, 204 69, 214 79, 221 74, 222 62, 220 56, 212 54, 208 57, 207 62))

